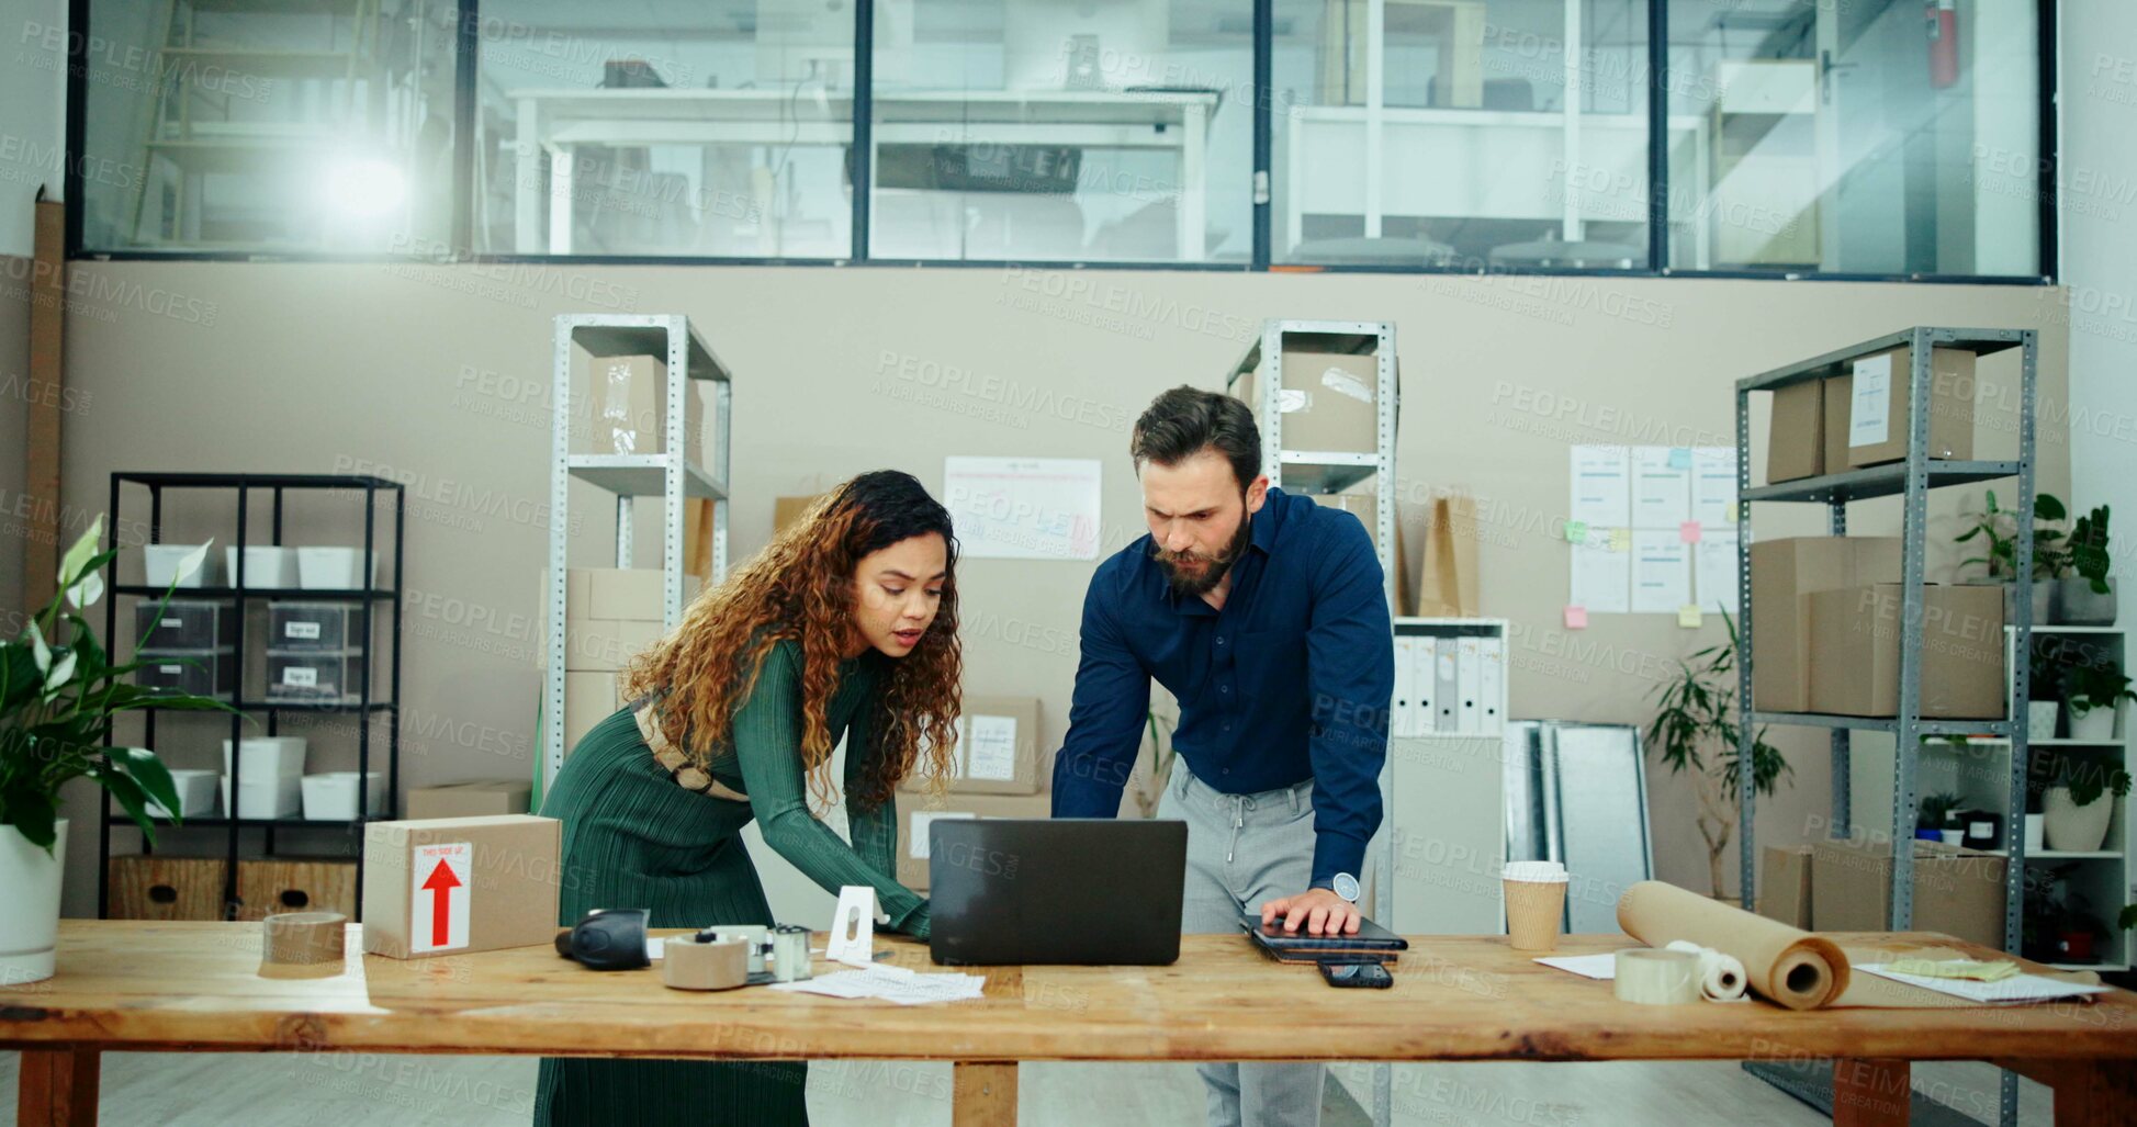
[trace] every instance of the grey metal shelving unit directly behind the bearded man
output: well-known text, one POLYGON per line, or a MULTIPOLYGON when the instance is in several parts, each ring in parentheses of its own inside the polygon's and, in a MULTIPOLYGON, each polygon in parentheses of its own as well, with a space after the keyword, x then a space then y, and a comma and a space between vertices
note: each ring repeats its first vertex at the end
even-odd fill
MULTIPOLYGON (((1381 575, 1387 595, 1389 616, 1402 612, 1395 605, 1395 421, 1402 411, 1402 389, 1395 366, 1395 325, 1391 321, 1263 321, 1261 340, 1246 349, 1246 355, 1225 374, 1225 389, 1242 396, 1254 389, 1261 423, 1261 468, 1272 485, 1297 494, 1340 494, 1372 481, 1374 485, 1374 530, 1372 541, 1381 556, 1381 575), (1284 387, 1284 346, 1297 338, 1312 344, 1314 353, 1372 355, 1378 374, 1374 387, 1376 441, 1372 451, 1314 451, 1293 449, 1284 443, 1284 411, 1276 406, 1284 387)), ((1393 875, 1395 845, 1389 832, 1393 810, 1393 757, 1381 768, 1381 832, 1378 847, 1368 858, 1370 873, 1359 877, 1372 885, 1374 920, 1393 920, 1393 875)), ((1393 1084, 1387 1065, 1372 1067, 1372 1121, 1387 1127, 1393 1116, 1393 1084)))

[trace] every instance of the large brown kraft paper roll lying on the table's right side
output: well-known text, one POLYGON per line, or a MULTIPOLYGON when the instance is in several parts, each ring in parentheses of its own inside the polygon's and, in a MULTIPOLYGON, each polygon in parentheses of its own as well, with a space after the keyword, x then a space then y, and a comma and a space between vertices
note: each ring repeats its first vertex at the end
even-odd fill
POLYGON ((1675 939, 1714 947, 1744 964, 1744 982, 1754 994, 1789 1009, 1831 1005, 1849 988, 1849 958, 1831 939, 1663 881, 1624 890, 1618 926, 1650 947, 1675 939))

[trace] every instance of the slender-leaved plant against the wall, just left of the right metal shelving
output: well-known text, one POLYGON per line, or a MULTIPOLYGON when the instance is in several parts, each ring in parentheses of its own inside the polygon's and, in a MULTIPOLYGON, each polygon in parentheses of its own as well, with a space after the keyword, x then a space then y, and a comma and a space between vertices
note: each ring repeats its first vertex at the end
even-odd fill
MULTIPOLYGON (((1693 776, 1693 791, 1699 796, 1699 836, 1707 845, 1707 881, 1712 896, 1722 892, 1722 853, 1737 830, 1737 629, 1729 612, 1722 612, 1729 627, 1729 642, 1707 646, 1688 659, 1678 661, 1678 674, 1658 684, 1656 714, 1648 721, 1648 746, 1656 748, 1671 774, 1693 776)), ((1765 742, 1765 729, 1752 736, 1750 778, 1752 793, 1769 796, 1780 778, 1791 774, 1789 761, 1774 744, 1765 742)))

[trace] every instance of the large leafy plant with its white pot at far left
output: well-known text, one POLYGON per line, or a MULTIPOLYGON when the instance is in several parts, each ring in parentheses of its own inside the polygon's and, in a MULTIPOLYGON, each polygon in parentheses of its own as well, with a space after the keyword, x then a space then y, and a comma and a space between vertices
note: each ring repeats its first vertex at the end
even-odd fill
MULTIPOLYGON (((60 928, 60 875, 66 866, 66 819, 60 789, 92 778, 115 798, 154 845, 150 802, 177 810, 171 772, 147 748, 105 746, 120 712, 158 708, 229 710, 207 697, 135 686, 141 663, 109 665, 96 633, 81 618, 103 592, 111 552, 96 552, 103 518, 66 550, 60 590, 0 646, 0 984, 51 977, 60 928)), ((177 577, 207 556, 194 550, 177 577)), ((165 588, 156 616, 169 603, 165 588)), ((177 821, 175 817, 171 821, 177 821)))

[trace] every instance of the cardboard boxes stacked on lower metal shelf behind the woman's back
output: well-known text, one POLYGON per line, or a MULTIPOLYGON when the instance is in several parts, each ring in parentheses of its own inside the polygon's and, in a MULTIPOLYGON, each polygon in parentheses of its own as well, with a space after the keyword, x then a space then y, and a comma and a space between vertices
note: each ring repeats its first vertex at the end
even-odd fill
MULTIPOLYGON (((662 635, 658 569, 575 567, 564 580, 564 753, 622 704, 615 674, 662 635)), ((684 603, 703 584, 684 575, 684 603)), ((547 661, 543 646, 543 661, 547 661)))

